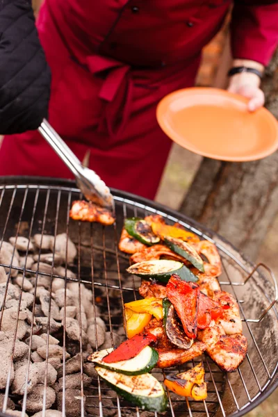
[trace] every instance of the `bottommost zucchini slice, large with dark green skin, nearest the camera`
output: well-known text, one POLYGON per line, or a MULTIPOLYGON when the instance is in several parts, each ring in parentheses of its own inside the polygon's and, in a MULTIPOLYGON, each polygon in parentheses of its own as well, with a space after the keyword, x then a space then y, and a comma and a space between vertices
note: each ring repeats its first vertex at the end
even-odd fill
POLYGON ((151 374, 129 376, 96 366, 99 377, 122 397, 147 411, 162 412, 167 409, 163 386, 151 374))

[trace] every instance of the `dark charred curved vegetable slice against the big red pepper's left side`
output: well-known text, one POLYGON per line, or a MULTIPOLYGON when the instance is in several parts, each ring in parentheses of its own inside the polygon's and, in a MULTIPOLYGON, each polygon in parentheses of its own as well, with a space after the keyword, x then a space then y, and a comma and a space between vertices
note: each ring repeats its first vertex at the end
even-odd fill
POLYGON ((183 329, 177 322, 172 303, 163 299, 163 325, 169 340, 181 349, 189 349, 193 345, 193 339, 186 336, 183 329))

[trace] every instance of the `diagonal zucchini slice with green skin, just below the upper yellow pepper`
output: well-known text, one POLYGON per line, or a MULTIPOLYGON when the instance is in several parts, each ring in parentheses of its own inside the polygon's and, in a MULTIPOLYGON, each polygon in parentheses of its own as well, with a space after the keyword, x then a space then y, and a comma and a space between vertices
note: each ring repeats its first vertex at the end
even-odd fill
POLYGON ((164 240, 170 250, 187 259, 199 271, 204 272, 204 261, 193 246, 181 239, 167 237, 164 240))

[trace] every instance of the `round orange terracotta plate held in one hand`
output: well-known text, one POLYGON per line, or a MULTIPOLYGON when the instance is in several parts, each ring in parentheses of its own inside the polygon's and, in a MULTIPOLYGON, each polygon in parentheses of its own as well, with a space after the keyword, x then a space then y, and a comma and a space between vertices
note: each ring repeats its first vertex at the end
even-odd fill
POLYGON ((254 161, 278 148, 278 122, 265 108, 218 88, 186 88, 158 104, 161 129, 182 147, 222 161, 254 161))

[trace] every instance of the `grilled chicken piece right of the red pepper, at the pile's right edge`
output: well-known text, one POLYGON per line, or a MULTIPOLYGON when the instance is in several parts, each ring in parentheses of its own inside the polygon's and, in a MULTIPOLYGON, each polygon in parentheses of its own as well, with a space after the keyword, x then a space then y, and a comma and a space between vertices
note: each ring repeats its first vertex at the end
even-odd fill
POLYGON ((242 333, 243 323, 240 319, 238 303, 234 297, 226 291, 220 291, 215 294, 215 301, 220 302, 224 307, 225 304, 229 306, 228 309, 223 309, 222 317, 217 320, 217 324, 222 325, 225 334, 242 333))

